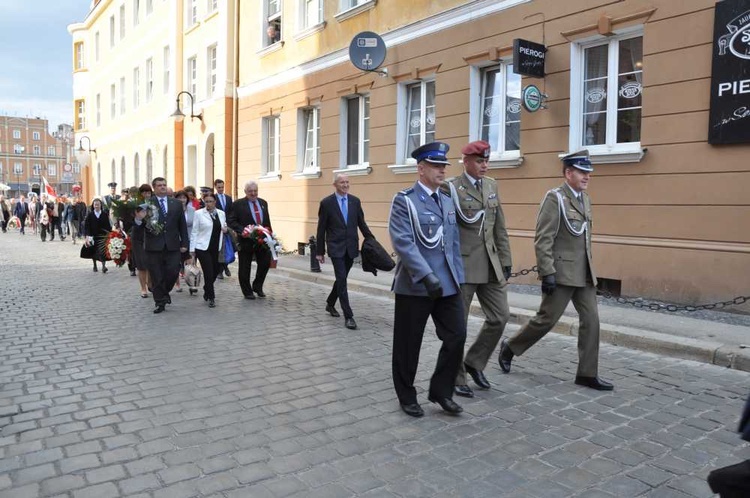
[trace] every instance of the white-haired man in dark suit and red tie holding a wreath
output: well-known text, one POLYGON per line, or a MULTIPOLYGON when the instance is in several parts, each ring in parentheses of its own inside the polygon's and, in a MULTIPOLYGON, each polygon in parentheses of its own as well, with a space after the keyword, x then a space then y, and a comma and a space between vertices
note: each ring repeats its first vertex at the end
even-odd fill
POLYGON ((239 281, 245 299, 266 297, 263 292, 263 282, 271 266, 271 252, 268 247, 256 244, 245 233, 245 227, 259 225, 271 230, 271 215, 268 203, 258 197, 258 184, 252 180, 245 183, 245 198, 232 203, 232 209, 227 216, 229 228, 237 232, 240 243, 239 281), (253 258, 258 264, 255 280, 250 285, 250 265, 253 258), (255 293, 255 294, 254 294, 255 293))

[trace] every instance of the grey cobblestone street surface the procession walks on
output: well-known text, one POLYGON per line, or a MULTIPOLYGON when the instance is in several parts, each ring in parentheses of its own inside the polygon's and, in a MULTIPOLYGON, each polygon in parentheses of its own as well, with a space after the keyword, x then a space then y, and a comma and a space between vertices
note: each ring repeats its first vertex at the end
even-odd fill
POLYGON ((600 393, 552 334, 450 417, 426 400, 428 332, 412 419, 388 298, 353 293, 348 331, 327 286, 275 270, 267 299, 232 278, 213 310, 184 292, 154 315, 79 247, 0 234, 0 497, 705 497, 710 469, 750 458, 746 372, 602 345, 600 393))

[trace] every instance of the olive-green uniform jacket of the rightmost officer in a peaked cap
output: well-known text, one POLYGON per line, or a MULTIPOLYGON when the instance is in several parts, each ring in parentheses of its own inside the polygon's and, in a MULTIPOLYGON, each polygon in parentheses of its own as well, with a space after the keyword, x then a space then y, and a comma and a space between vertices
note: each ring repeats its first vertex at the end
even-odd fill
POLYGON ((566 184, 550 190, 542 201, 536 220, 534 249, 539 276, 554 273, 558 284, 571 287, 585 287, 589 275, 590 281, 596 285, 591 258, 591 200, 586 192, 582 195, 585 209, 581 209, 578 199, 566 184), (580 230, 584 221, 588 222, 586 231, 580 236, 571 233, 560 216, 556 192, 562 195, 565 213, 574 230, 580 230))

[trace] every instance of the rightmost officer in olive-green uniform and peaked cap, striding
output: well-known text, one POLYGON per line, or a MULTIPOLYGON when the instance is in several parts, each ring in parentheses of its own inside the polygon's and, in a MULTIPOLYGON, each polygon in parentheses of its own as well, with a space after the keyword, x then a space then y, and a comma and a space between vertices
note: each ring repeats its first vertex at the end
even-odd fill
POLYGON ((563 158, 565 183, 542 200, 534 248, 542 278, 539 311, 519 333, 500 344, 500 368, 510 372, 514 355, 522 355, 549 332, 572 300, 578 311, 578 373, 575 383, 600 391, 612 384, 599 378, 599 310, 596 274, 591 262, 591 200, 586 189, 594 168, 588 151, 563 158))

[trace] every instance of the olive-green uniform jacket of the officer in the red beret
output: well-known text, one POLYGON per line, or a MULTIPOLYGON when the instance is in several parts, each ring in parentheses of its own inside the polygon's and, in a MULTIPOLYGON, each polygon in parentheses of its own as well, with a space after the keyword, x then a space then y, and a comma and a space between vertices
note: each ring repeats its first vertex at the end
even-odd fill
MULTIPOLYGON (((512 266, 513 262, 497 182, 494 178, 484 177, 482 192, 469 182, 465 174, 451 178, 448 182, 456 187, 458 194, 458 199, 453 202, 460 206, 467 217, 472 218, 479 210, 484 209, 484 225, 481 219, 467 224, 457 216, 466 283, 488 283, 491 270, 494 270, 497 281, 502 282, 503 266, 512 266)), ((447 187, 444 185, 443 190, 450 195, 447 187)))

